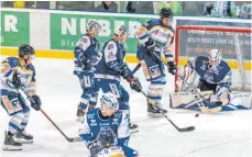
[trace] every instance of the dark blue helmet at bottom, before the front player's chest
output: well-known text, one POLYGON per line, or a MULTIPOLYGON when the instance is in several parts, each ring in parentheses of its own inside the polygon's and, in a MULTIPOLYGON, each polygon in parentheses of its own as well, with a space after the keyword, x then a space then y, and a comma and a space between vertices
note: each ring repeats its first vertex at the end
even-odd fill
POLYGON ((97 136, 98 146, 100 149, 109 148, 118 145, 117 135, 110 126, 102 126, 97 136))

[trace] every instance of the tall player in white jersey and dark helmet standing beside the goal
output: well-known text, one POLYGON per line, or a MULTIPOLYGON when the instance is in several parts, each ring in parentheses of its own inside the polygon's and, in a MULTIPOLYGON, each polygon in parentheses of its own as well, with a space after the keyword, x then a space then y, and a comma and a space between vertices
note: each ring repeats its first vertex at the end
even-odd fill
POLYGON ((156 105, 147 102, 147 113, 150 116, 160 116, 167 110, 161 105, 163 88, 166 83, 165 68, 163 63, 154 54, 161 56, 162 52, 169 66, 168 72, 174 75, 176 63, 173 60, 174 30, 172 27, 173 12, 171 9, 162 9, 160 19, 150 20, 138 31, 139 38, 136 57, 141 63, 144 76, 151 81, 147 96, 155 101, 156 105))

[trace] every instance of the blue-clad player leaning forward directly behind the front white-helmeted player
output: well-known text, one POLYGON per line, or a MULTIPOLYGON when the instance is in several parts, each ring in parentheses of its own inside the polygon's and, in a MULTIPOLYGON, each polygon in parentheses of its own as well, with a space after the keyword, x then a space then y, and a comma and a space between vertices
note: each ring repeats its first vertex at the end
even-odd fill
MULTIPOLYGON (((136 92, 141 91, 141 85, 133 77, 131 69, 123 61, 125 49, 123 43, 129 34, 124 25, 114 29, 114 38, 109 40, 102 48, 102 58, 96 68, 95 78, 97 85, 103 92, 112 92, 119 100, 119 109, 127 113, 130 119, 129 93, 120 85, 121 77, 130 82, 131 89, 136 92)), ((130 124, 131 131, 138 132, 136 124, 130 124)))

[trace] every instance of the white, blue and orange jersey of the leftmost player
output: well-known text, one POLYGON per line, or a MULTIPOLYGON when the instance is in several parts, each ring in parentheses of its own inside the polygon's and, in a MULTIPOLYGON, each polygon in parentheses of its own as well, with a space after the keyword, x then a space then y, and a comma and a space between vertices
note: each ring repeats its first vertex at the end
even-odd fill
POLYGON ((17 57, 8 57, 1 63, 1 94, 18 92, 15 88, 11 87, 14 72, 19 75, 24 91, 35 94, 35 68, 32 64, 25 66, 24 60, 17 57))

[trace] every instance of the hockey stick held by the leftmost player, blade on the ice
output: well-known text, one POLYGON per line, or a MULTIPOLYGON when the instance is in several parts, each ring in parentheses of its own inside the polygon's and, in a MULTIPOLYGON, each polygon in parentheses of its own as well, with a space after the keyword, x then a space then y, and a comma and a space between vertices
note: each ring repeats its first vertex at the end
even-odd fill
MULTIPOLYGON (((26 92, 24 92, 23 90, 19 89, 20 93, 25 93, 28 99, 32 102, 34 102, 34 100, 32 99, 32 97, 30 94, 28 94, 26 92)), ((73 142, 81 142, 80 137, 74 137, 74 138, 69 138, 68 136, 66 136, 66 134, 54 123, 54 121, 41 109, 40 110, 44 116, 54 125, 54 127, 57 128, 57 131, 67 139, 67 142, 73 143, 73 142)))

